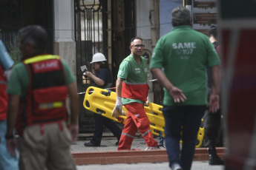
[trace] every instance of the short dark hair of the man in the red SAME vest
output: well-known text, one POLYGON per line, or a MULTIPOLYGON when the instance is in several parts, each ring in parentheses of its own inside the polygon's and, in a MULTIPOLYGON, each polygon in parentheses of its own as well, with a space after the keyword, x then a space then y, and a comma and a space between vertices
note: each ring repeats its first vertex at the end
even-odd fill
POLYGON ((45 52, 47 48, 47 32, 40 25, 23 27, 18 32, 18 38, 21 44, 32 44, 38 53, 45 52))

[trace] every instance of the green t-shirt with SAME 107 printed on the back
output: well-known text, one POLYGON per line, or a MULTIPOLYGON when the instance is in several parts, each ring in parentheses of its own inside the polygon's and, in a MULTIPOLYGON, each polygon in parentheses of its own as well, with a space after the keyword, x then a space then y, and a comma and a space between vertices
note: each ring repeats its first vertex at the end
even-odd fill
MULTIPOLYGON (((206 68, 220 64, 214 46, 203 33, 190 26, 178 26, 160 38, 154 48, 150 68, 163 69, 174 86, 183 90, 187 100, 179 105, 207 103, 206 68)), ((174 106, 174 100, 164 88, 165 106, 174 106)))

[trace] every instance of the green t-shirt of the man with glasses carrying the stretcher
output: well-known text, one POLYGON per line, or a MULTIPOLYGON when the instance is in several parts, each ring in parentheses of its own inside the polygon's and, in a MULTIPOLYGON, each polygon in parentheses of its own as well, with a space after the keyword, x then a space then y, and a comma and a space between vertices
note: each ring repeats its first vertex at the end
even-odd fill
MULTIPOLYGON (((148 75, 148 65, 145 61, 145 58, 141 57, 142 62, 139 64, 132 55, 129 55, 125 58, 119 66, 119 71, 117 78, 123 78, 125 82, 129 83, 145 83, 147 82, 148 75), (134 65, 135 70, 132 69, 131 64, 134 65)), ((131 99, 131 98, 122 98, 122 103, 144 103, 143 101, 131 99)))

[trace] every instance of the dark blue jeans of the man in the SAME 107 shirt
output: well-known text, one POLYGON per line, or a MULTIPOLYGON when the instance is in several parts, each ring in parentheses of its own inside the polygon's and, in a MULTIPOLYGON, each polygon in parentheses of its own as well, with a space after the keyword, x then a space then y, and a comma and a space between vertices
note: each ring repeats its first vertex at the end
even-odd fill
POLYGON ((183 170, 191 169, 197 132, 205 110, 206 106, 163 106, 165 145, 170 167, 179 163, 183 170), (183 140, 181 152, 180 140, 183 140))

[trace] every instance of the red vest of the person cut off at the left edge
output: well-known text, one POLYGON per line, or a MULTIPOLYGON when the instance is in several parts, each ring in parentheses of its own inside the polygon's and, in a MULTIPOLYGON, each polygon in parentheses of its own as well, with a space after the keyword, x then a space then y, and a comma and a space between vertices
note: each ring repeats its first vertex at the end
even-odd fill
POLYGON ((6 120, 8 95, 6 93, 7 80, 4 69, 0 66, 0 120, 6 120))

